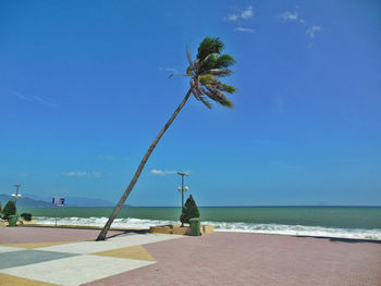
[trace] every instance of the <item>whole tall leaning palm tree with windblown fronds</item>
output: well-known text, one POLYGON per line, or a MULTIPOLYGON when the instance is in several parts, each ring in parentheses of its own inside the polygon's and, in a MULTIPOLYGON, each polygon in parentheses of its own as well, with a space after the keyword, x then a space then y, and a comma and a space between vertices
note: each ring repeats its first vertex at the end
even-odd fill
MULTIPOLYGON (((133 179, 124 191, 122 198, 110 215, 108 222, 100 232, 97 240, 105 240, 108 231, 111 227, 112 222, 115 220, 118 213, 122 209, 130 192, 134 188, 149 156, 152 153, 155 147, 158 145, 160 138, 170 127, 171 123, 177 116, 189 96, 193 95, 197 100, 201 101, 207 108, 211 109, 211 101, 220 103, 223 107, 232 108, 233 103, 226 98, 226 94, 233 94, 236 91, 234 86, 225 85, 219 80, 220 77, 228 76, 232 73, 228 67, 234 64, 235 60, 229 54, 221 54, 224 45, 219 38, 205 38, 198 47, 197 59, 193 61, 189 49, 186 50, 189 66, 186 70, 186 76, 190 77, 190 87, 186 92, 183 101, 169 119, 164 127, 161 129, 155 141, 149 147, 148 151, 144 156, 139 166, 137 167, 133 179)), ((171 75, 172 76, 172 75, 171 75)), ((170 77, 171 77, 170 76, 170 77)))

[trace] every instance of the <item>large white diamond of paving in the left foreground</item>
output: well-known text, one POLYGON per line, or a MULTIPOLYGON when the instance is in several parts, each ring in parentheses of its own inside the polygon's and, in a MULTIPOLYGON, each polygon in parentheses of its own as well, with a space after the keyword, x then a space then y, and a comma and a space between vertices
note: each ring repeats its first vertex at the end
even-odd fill
POLYGON ((78 256, 19 268, 3 269, 0 270, 0 273, 73 286, 153 263, 156 262, 97 256, 78 256))

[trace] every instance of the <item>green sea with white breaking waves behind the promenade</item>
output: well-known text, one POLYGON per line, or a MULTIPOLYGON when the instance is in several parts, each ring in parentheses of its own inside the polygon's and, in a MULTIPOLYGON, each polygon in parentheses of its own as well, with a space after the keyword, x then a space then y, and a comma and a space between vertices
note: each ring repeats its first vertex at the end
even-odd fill
MULTIPOLYGON (((38 224, 103 226, 113 208, 24 209, 38 224)), ((202 224, 217 232, 381 240, 381 207, 200 207, 202 224)), ((148 228, 180 223, 181 208, 123 208, 112 226, 148 228)))

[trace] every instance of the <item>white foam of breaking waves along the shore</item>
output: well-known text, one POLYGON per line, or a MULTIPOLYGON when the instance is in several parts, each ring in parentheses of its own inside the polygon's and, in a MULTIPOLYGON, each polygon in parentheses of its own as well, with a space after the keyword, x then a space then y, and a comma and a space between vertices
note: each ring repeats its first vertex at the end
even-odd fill
MULTIPOLYGON (((56 223, 54 217, 36 216, 37 224, 56 223)), ((58 224, 64 225, 88 225, 103 226, 108 217, 58 217, 58 224)), ((149 228, 149 226, 176 224, 177 221, 143 220, 143 219, 115 219, 113 227, 149 228)), ((202 222, 214 226, 216 232, 237 232, 256 234, 279 234, 296 236, 321 236, 337 238, 374 239, 381 240, 381 229, 360 228, 333 228, 306 225, 283 225, 283 224, 250 224, 236 222, 202 222)))

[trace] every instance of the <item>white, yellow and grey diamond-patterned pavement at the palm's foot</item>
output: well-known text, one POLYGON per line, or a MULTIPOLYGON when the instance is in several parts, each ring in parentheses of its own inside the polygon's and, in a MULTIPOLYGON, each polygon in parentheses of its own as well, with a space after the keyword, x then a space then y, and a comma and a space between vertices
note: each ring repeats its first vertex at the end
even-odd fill
POLYGON ((156 263, 144 245, 181 236, 136 234, 106 241, 0 246, 0 285, 81 285, 156 263))

